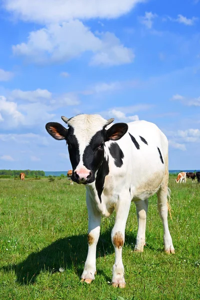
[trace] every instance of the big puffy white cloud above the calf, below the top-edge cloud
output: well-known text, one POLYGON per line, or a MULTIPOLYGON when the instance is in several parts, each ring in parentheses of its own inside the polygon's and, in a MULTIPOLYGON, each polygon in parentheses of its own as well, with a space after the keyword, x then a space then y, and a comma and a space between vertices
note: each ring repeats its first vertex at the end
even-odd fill
POLYGON ((79 20, 50 24, 29 33, 27 43, 12 46, 13 53, 35 63, 67 61, 83 52, 91 52, 91 65, 119 65, 134 59, 132 49, 124 47, 110 32, 94 35, 79 20))

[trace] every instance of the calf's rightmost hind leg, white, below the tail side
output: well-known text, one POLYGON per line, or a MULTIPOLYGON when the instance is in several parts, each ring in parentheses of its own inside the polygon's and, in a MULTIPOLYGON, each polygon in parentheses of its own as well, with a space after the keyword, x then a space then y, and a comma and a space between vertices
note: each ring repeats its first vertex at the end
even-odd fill
POLYGON ((165 186, 161 185, 157 192, 157 208, 164 229, 164 234, 163 234, 164 250, 166 253, 174 253, 174 247, 168 229, 168 221, 167 221, 167 213, 168 213, 167 185, 165 186))

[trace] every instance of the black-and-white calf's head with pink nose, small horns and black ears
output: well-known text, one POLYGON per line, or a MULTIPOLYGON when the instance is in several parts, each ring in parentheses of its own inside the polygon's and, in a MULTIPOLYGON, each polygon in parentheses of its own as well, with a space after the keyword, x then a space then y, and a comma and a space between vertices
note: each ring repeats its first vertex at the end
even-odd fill
POLYGON ((61 118, 67 123, 67 129, 59 123, 49 122, 46 130, 55 139, 66 140, 72 165, 71 179, 77 183, 91 183, 104 159, 104 143, 121 138, 128 126, 126 123, 116 123, 106 129, 114 119, 105 120, 97 114, 61 118))

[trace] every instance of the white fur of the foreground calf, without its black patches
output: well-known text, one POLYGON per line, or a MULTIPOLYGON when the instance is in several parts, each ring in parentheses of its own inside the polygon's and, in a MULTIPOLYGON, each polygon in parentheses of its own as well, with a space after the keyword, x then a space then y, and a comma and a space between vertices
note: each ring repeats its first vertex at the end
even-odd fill
MULTIPOLYGON (((85 146, 96 131, 102 129, 106 120, 97 115, 77 115, 72 118, 69 125, 74 127, 74 134, 79 142, 79 150, 82 155, 85 146)), ((109 125, 109 127, 111 124, 109 125)), ((100 214, 108 217, 116 210, 115 224, 111 232, 111 240, 115 250, 115 263, 113 265, 112 283, 114 286, 124 287, 124 269, 122 263, 122 245, 115 244, 118 240, 124 241, 125 224, 129 212, 131 200, 135 202, 138 232, 135 250, 143 251, 145 244, 145 226, 148 207, 148 197, 157 192, 158 211, 164 228, 164 248, 167 252, 173 252, 173 244, 167 223, 167 182, 168 182, 168 142, 159 128, 150 122, 134 121, 128 123, 130 132, 139 143, 137 149, 128 133, 115 141, 123 151, 124 158, 121 167, 116 167, 114 159, 109 153, 111 142, 105 142, 104 156, 109 158, 109 173, 105 176, 104 189, 101 194, 101 203, 95 188, 95 182, 86 186, 86 203, 88 210, 88 234, 92 236, 92 243, 88 243, 88 254, 81 275, 82 280, 90 282, 94 279, 96 244, 100 232, 100 214), (145 138, 148 145, 141 141, 145 138), (157 147, 161 151, 164 163, 161 162, 157 147), (130 191, 129 191, 130 189, 130 191)), ((81 156, 82 157, 82 156, 81 156)), ((82 166, 82 158, 79 166, 82 166)), ((78 167, 79 167, 78 166, 78 167)))

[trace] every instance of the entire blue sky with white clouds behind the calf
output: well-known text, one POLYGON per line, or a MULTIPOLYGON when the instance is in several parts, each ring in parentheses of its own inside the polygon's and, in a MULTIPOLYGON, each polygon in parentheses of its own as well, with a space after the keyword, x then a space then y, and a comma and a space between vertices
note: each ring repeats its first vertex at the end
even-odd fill
POLYGON ((1 0, 0 169, 69 169, 45 123, 77 113, 154 122, 169 169, 200 169, 199 12, 199 0, 1 0))

